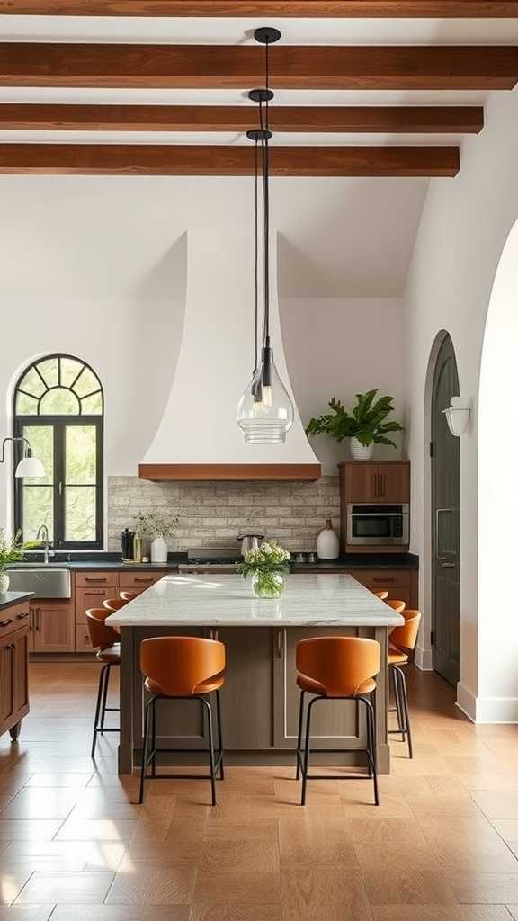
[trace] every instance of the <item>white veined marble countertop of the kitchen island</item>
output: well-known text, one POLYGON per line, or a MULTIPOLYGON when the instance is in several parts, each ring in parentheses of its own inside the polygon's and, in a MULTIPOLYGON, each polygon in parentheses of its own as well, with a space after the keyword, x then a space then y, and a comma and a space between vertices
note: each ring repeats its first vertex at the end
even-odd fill
POLYGON ((107 618, 118 627, 398 626, 403 618, 352 576, 286 577, 279 599, 255 598, 241 576, 164 576, 107 618))

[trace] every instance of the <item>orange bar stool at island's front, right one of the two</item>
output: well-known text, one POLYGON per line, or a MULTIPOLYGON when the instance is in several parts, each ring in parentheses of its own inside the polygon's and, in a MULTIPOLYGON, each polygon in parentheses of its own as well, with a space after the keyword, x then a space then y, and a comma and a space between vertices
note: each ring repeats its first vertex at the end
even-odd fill
MULTIPOLYGON (((370 694, 376 688, 374 678, 381 667, 380 644, 358 636, 318 636, 297 644, 296 664, 300 687, 299 735, 297 739, 297 780, 302 775, 300 805, 306 802, 308 780, 336 780, 336 775, 310 775, 312 709, 321 700, 353 700, 365 705, 367 717, 367 748, 319 749, 319 752, 365 752, 368 776, 374 785, 374 801, 379 804, 376 768, 376 720, 370 694), (313 694, 306 713, 306 732, 302 754, 302 724, 304 694, 313 694)), ((358 780, 358 775, 347 775, 358 780)), ((363 776, 363 775, 362 775, 363 776)), ((344 779, 347 779, 344 778, 344 779)))

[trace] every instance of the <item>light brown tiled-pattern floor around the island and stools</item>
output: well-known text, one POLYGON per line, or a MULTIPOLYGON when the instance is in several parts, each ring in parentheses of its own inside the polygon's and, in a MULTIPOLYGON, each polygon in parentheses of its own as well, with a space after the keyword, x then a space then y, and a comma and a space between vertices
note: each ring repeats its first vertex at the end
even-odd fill
MULTIPOLYGON (((518 921, 518 726, 474 727, 409 670, 415 740, 392 743, 382 805, 362 781, 229 768, 116 775, 88 757, 95 663, 33 663, 18 746, 0 740, 0 921, 518 921)), ((111 717, 112 718, 112 717, 111 717)))

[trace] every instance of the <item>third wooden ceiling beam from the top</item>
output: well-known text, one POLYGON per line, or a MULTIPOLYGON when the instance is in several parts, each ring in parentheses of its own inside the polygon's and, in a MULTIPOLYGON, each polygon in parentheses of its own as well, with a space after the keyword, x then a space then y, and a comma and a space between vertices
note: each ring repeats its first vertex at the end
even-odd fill
MULTIPOLYGON (((40 131, 232 131, 253 127, 253 106, 0 103, 0 129, 40 131)), ((478 134, 482 106, 271 106, 274 131, 478 134)))

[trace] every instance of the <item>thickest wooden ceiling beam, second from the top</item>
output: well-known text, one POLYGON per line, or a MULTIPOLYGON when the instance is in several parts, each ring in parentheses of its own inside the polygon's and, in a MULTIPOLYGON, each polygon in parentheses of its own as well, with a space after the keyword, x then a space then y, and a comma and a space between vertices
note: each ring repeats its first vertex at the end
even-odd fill
MULTIPOLYGON (((255 45, 0 43, 3 87, 242 89, 264 69, 255 45)), ((276 45, 270 72, 274 89, 512 89, 518 48, 276 45)))

